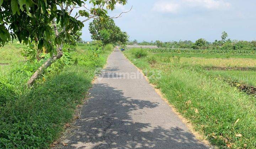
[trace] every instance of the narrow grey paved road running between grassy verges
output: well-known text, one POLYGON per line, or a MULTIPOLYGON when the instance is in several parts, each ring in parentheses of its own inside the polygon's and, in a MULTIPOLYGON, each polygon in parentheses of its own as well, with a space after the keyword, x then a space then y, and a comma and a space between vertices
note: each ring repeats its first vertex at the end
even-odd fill
POLYGON ((68 148, 208 148, 118 49, 90 93, 68 148))

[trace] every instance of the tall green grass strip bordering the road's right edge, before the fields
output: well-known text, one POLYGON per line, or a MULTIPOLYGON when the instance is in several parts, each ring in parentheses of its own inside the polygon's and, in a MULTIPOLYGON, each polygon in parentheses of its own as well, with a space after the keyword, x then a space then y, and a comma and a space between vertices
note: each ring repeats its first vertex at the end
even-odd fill
MULTIPOLYGON (((125 55, 146 74, 194 128, 220 148, 256 148, 256 98, 240 92, 200 67, 184 66, 178 60, 162 63, 164 56, 136 58, 133 50, 125 55), (240 137, 241 134, 241 137, 240 137)), ((149 55, 150 56, 150 55, 149 55)))

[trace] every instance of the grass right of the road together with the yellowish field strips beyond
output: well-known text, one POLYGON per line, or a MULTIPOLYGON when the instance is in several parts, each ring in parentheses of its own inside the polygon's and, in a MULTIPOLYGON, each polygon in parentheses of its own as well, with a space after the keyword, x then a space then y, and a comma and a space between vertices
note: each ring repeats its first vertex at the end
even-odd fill
POLYGON ((206 69, 255 67, 255 59, 219 59, 215 54, 208 58, 200 54, 177 57, 145 49, 130 49, 125 55, 212 144, 219 148, 256 148, 255 96, 218 77, 254 85, 255 71, 206 69))

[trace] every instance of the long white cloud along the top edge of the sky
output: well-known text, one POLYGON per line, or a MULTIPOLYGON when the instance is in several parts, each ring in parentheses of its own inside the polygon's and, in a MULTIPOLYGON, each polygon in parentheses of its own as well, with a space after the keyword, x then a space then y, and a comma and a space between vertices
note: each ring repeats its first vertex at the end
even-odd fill
POLYGON ((155 2, 152 10, 164 13, 178 13, 193 8, 221 10, 230 6, 230 3, 224 0, 160 0, 155 2))

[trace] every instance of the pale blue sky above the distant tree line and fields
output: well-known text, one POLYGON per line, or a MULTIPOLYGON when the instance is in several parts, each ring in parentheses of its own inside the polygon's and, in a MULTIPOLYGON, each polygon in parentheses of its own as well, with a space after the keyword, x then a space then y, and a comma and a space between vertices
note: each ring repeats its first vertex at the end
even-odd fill
MULTIPOLYGON (((128 0, 110 11, 132 11, 114 21, 130 40, 178 41, 204 38, 220 39, 226 31, 230 39, 256 40, 255 0, 128 0)), ((90 21, 89 21, 90 22, 90 21)), ((89 22, 82 30, 82 39, 91 40, 89 22)))

